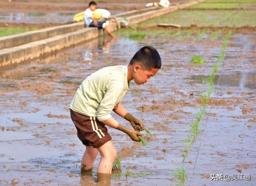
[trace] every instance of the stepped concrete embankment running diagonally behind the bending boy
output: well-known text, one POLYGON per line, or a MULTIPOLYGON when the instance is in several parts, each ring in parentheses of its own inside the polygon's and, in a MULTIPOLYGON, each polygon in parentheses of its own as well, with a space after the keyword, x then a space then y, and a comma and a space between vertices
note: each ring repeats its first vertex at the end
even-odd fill
MULTIPOLYGON (((176 6, 170 6, 169 8, 145 8, 141 11, 130 11, 115 17, 127 16, 126 19, 130 24, 136 24, 202 1, 185 2, 176 6)), ((120 22, 110 24, 112 32, 120 28, 120 22)), ((79 22, 2 37, 0 38, 0 67, 32 60, 44 54, 56 52, 80 42, 96 38, 102 34, 104 34, 103 30, 84 28, 84 23, 79 22)))

